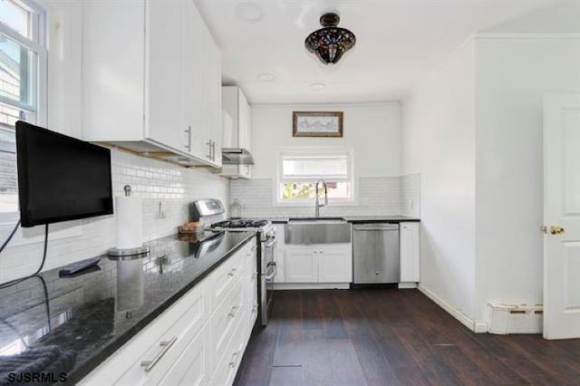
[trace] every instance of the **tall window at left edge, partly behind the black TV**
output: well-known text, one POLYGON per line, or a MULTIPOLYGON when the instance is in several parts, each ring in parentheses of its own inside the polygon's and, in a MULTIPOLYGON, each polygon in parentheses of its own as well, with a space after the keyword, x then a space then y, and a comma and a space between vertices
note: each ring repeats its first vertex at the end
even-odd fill
POLYGON ((34 4, 0 0, 0 223, 18 211, 14 123, 43 124, 45 15, 34 4))

